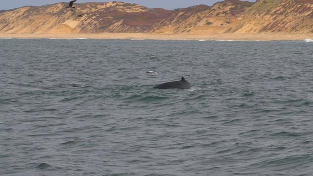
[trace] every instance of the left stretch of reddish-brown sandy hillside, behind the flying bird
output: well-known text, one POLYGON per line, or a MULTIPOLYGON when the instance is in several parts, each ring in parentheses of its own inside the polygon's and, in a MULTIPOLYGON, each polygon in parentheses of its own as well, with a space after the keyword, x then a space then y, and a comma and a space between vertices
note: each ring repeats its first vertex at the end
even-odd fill
POLYGON ((144 32, 172 13, 161 8, 149 9, 138 4, 117 1, 74 4, 76 7, 74 12, 65 8, 66 6, 67 3, 64 2, 2 11, 0 32, 35 34, 144 32))

